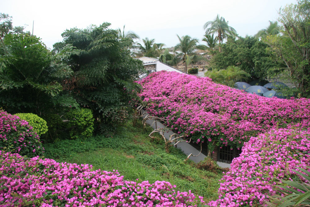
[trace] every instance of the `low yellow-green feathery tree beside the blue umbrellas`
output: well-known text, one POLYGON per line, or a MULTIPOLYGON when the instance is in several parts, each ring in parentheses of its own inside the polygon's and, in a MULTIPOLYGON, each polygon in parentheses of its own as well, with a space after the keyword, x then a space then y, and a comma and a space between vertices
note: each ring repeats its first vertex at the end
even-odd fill
POLYGON ((227 69, 214 69, 207 71, 205 76, 211 78, 216 83, 233 87, 238 81, 246 81, 250 77, 250 74, 241 70, 237 66, 229 66, 227 69))

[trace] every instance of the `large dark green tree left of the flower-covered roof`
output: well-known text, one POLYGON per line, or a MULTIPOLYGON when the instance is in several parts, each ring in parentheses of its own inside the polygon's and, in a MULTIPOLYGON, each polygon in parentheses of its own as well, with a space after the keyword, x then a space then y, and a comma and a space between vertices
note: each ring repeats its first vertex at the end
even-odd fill
POLYGON ((134 81, 144 70, 142 62, 130 56, 117 31, 109 26, 104 23, 62 33, 64 45, 73 45, 78 51, 66 60, 74 75, 63 86, 82 107, 92 110, 96 130, 104 131, 113 130, 129 116, 139 88, 134 81))

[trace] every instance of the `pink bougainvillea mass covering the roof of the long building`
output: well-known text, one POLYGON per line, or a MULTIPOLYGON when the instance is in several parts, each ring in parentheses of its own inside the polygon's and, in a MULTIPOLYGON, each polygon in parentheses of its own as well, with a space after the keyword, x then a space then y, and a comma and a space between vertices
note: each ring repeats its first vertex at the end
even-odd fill
POLYGON ((148 113, 167 119, 167 127, 194 141, 243 146, 252 136, 274 127, 310 126, 309 99, 266 98, 215 84, 208 77, 176 72, 152 73, 139 96, 148 113))

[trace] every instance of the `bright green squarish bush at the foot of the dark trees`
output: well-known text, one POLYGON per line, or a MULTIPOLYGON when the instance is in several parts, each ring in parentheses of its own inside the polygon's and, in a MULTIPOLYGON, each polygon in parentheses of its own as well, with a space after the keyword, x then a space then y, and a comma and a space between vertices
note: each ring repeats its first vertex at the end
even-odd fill
POLYGON ((72 109, 66 114, 70 137, 90 137, 94 131, 94 118, 90 109, 72 109))

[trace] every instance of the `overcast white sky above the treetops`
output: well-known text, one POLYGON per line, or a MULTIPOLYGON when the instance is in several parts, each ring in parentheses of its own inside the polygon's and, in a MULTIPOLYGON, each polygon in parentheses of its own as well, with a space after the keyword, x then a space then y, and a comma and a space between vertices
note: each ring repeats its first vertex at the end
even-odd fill
POLYGON ((180 37, 189 35, 200 41, 204 35, 203 24, 223 16, 228 25, 245 37, 254 35, 277 20, 277 11, 295 0, 0 0, 0 13, 13 17, 13 26, 28 24, 26 30, 42 38, 48 48, 62 41, 65 29, 86 28, 90 24, 111 23, 110 28, 132 30, 140 39, 148 37, 167 47, 178 43, 180 37))

